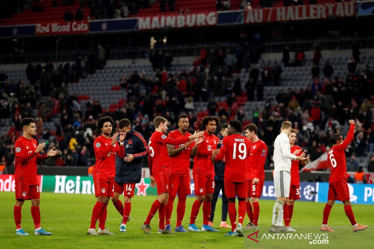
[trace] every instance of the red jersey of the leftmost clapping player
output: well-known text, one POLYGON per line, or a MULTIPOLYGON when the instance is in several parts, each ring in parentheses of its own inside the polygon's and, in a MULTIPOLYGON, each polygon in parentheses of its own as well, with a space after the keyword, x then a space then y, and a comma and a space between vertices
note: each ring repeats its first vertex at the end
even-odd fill
POLYGON ((15 172, 16 182, 27 185, 38 185, 37 162, 47 158, 47 154, 40 156, 35 153, 38 142, 31 138, 28 140, 24 136, 19 137, 14 143, 15 148, 15 172))

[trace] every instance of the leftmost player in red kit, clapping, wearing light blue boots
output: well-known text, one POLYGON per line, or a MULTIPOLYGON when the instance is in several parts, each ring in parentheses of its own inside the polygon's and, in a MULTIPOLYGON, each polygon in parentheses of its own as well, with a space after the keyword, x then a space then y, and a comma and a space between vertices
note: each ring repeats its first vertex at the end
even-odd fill
POLYGON ((33 118, 24 118, 19 123, 23 135, 15 143, 15 193, 16 203, 13 214, 16 224, 16 234, 27 236, 21 226, 22 205, 25 200, 31 200, 31 216, 35 225, 35 235, 51 235, 40 226, 40 191, 37 177, 37 162, 45 160, 48 156, 56 156, 58 150, 55 147, 49 150, 45 155, 39 155, 39 152, 45 147, 46 143, 39 143, 32 138, 36 133, 35 120, 33 118))

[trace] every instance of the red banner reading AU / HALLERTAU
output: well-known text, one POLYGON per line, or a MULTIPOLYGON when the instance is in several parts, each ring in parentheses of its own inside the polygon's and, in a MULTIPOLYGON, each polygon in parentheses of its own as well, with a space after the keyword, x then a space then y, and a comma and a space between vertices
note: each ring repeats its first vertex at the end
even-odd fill
POLYGON ((356 15, 356 2, 307 4, 288 7, 251 9, 244 12, 244 23, 286 22, 327 19, 330 16, 352 17, 356 15))

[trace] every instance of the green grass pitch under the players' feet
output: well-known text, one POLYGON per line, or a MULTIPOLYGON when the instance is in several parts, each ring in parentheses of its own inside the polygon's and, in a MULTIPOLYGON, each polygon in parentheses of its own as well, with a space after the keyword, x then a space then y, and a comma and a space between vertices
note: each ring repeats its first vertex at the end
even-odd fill
MULTIPOLYGON (((356 220, 369 225, 365 231, 354 233, 343 209, 343 204, 335 204, 329 218, 329 226, 335 233, 328 234, 328 245, 310 244, 310 239, 297 237, 285 239, 266 239, 271 224, 273 200, 260 200, 258 243, 239 237, 224 237, 229 229, 218 228, 214 232, 188 232, 177 234, 157 234, 158 217, 151 222, 152 234, 144 234, 140 226, 144 222, 151 203, 156 196, 135 196, 132 202, 131 221, 127 224, 127 233, 119 232, 121 221, 113 204, 108 205, 106 227, 116 233, 113 236, 88 236, 92 207, 96 202, 93 195, 85 194, 41 194, 40 211, 42 227, 52 232, 52 236, 34 236, 34 225, 30 214, 30 201, 22 208, 22 227, 30 236, 16 236, 13 220, 14 193, 0 192, 0 248, 373 248, 374 208, 370 205, 352 205, 356 220)), ((122 196, 121 196, 122 198, 122 196)), ((183 225, 187 229, 191 205, 194 198, 187 198, 186 214, 183 225)), ((176 205, 172 216, 173 230, 176 220, 176 205)), ((291 226, 297 234, 322 234, 319 227, 322 222, 324 203, 296 202, 291 226)), ((221 200, 217 202, 217 218, 214 227, 219 225, 221 217, 221 200)), ((229 222, 229 220, 228 220, 229 222)), ((248 222, 248 217, 245 223, 248 222)), ((202 209, 196 225, 202 225, 202 209)), ((246 231, 245 235, 254 231, 246 231)), ((294 236, 294 235, 293 235, 294 236)), ((255 238, 255 235, 251 237, 255 238)), ((313 238, 314 239, 314 238, 313 238)), ((316 242, 318 243, 318 242, 316 242)), ((321 242, 322 243, 322 242, 321 242)), ((324 242, 326 243, 326 242, 324 242)))

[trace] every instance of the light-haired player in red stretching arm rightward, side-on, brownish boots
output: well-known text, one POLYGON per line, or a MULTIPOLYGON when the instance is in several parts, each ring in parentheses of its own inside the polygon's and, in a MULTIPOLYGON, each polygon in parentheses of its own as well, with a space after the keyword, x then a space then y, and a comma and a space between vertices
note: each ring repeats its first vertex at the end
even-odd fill
POLYGON ((166 137, 168 130, 168 120, 163 117, 157 116, 153 120, 154 128, 156 131, 149 139, 149 156, 148 166, 151 175, 151 187, 157 185, 157 199, 153 202, 151 209, 148 213, 147 219, 141 226, 144 233, 151 234, 150 222, 153 216, 159 211, 159 234, 170 234, 170 230, 165 228, 165 208, 169 199, 169 192, 172 192, 172 179, 170 172, 170 161, 168 149, 166 144, 179 145, 187 143, 195 138, 202 137, 203 132, 194 133, 191 136, 174 140, 173 138, 166 137))

